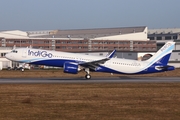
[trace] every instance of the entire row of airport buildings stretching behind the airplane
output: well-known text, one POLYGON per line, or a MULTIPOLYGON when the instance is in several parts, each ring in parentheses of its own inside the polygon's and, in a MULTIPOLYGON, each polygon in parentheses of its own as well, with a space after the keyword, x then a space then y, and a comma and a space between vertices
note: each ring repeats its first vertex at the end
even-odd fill
MULTIPOLYGON (((180 33, 180 32, 179 32, 180 33)), ((178 30, 148 30, 146 26, 77 29, 77 30, 46 30, 46 31, 1 31, 0 58, 3 68, 17 66, 4 58, 14 46, 32 47, 37 49, 78 52, 106 56, 116 49, 118 58, 148 59, 166 41, 178 41, 178 30), (161 39, 160 39, 161 37, 161 39)), ((175 47, 172 60, 179 61, 179 43, 175 47), (173 57, 174 56, 174 57, 173 57)))

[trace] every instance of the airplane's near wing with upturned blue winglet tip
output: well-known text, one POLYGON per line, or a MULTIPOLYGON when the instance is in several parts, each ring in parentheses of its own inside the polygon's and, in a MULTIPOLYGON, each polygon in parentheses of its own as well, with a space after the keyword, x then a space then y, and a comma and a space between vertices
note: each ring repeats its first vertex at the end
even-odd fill
POLYGON ((110 60, 113 55, 115 54, 116 50, 114 50, 112 53, 110 53, 106 58, 100 59, 100 60, 95 60, 95 61, 90 61, 90 62, 82 62, 79 63, 79 65, 90 68, 92 70, 95 70, 97 67, 100 66, 100 64, 104 64, 106 61, 110 60))

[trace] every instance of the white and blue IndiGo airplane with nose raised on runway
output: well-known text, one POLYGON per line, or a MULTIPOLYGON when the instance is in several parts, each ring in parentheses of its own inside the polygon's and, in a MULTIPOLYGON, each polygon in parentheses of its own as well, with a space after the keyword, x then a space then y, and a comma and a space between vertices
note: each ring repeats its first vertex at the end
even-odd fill
MULTIPOLYGON (((77 74, 84 70, 86 72, 85 78, 91 79, 90 71, 116 74, 147 74, 174 70, 174 66, 168 65, 174 46, 175 42, 167 42, 146 61, 113 58, 116 50, 103 57, 33 48, 16 48, 7 53, 6 58, 24 64, 63 67, 63 71, 70 74, 77 74)), ((24 71, 24 68, 22 68, 22 71, 24 71)))

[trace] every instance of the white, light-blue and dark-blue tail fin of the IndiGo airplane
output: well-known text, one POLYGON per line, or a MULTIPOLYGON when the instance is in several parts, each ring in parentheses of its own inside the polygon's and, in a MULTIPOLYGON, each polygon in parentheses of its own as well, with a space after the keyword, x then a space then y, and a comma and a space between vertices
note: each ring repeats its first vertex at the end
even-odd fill
POLYGON ((167 42, 159 51, 153 55, 148 62, 151 62, 153 64, 163 64, 167 65, 169 58, 171 56, 171 53, 174 49, 175 42, 167 42))

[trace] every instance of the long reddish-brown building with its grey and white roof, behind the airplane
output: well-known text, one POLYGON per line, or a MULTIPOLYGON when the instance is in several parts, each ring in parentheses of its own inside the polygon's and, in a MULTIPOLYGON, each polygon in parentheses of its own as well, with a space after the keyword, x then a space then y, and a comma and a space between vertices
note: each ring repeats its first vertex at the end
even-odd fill
POLYGON ((4 31, 1 47, 42 48, 56 51, 156 51, 156 42, 147 38, 147 27, 83 30, 4 31))

